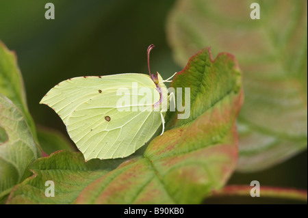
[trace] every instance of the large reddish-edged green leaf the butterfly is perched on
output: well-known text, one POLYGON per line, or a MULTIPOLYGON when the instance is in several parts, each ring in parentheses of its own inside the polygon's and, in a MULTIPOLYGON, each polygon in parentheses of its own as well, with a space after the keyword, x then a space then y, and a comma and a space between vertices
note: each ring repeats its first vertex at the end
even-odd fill
POLYGON ((144 154, 84 163, 79 153, 57 152, 31 166, 34 176, 12 191, 8 203, 202 202, 235 169, 241 74, 232 55, 222 53, 213 61, 207 48, 190 59, 172 87, 190 87, 190 118, 179 120, 177 112, 170 112, 168 131, 155 137, 144 154), (90 163, 99 167, 84 168, 90 163), (114 163, 121 164, 111 171, 114 163), (55 197, 44 196, 46 180, 55 182, 55 197))

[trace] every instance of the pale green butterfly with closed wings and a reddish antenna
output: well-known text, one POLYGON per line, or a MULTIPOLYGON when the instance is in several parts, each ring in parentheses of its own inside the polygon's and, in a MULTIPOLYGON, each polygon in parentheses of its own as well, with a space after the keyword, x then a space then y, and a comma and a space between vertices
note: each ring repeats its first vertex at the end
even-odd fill
POLYGON ((166 80, 158 72, 151 74, 153 48, 151 44, 147 50, 149 75, 75 77, 55 85, 40 101, 62 118, 86 161, 129 156, 146 144, 161 124, 164 133, 164 116, 173 94, 164 82, 170 82, 176 73, 166 80), (128 94, 119 95, 119 90, 128 94), (122 101, 124 105, 119 104, 122 101))

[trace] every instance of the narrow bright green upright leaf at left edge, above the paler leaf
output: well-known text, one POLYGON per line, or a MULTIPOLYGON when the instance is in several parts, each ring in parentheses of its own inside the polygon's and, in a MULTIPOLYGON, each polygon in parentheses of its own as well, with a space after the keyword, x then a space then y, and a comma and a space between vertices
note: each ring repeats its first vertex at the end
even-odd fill
POLYGON ((21 71, 17 65, 17 57, 14 51, 8 48, 0 41, 0 93, 7 96, 18 109, 25 115, 25 120, 29 125, 31 133, 36 142, 36 127, 29 110, 27 108, 27 100, 25 95, 25 87, 21 71))

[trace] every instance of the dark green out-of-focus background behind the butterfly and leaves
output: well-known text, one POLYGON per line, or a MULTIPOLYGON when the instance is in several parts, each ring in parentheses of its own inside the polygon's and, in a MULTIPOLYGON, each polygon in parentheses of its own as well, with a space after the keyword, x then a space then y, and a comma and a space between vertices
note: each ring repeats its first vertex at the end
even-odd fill
MULTIPOLYGON (((181 70, 172 60, 166 42, 166 17, 173 3, 166 0, 0 1, 0 40, 16 51, 28 107, 35 122, 67 135, 56 113, 38 104, 42 96, 71 77, 147 73, 146 49, 151 43, 156 46, 151 53, 153 72, 158 71, 167 78, 181 70), (47 2, 55 5, 55 20, 44 18, 47 2)), ((259 180, 261 186, 307 189, 307 152, 262 172, 236 173, 229 183, 249 185, 251 180, 259 180)))

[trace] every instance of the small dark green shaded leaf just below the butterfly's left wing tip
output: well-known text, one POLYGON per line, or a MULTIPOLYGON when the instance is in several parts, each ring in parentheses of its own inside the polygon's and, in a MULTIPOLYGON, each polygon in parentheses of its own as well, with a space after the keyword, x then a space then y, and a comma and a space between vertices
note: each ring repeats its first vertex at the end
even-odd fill
POLYGON ((43 126, 38 126, 37 131, 38 141, 40 141, 40 146, 46 154, 51 154, 57 150, 77 151, 76 147, 59 131, 43 126))

